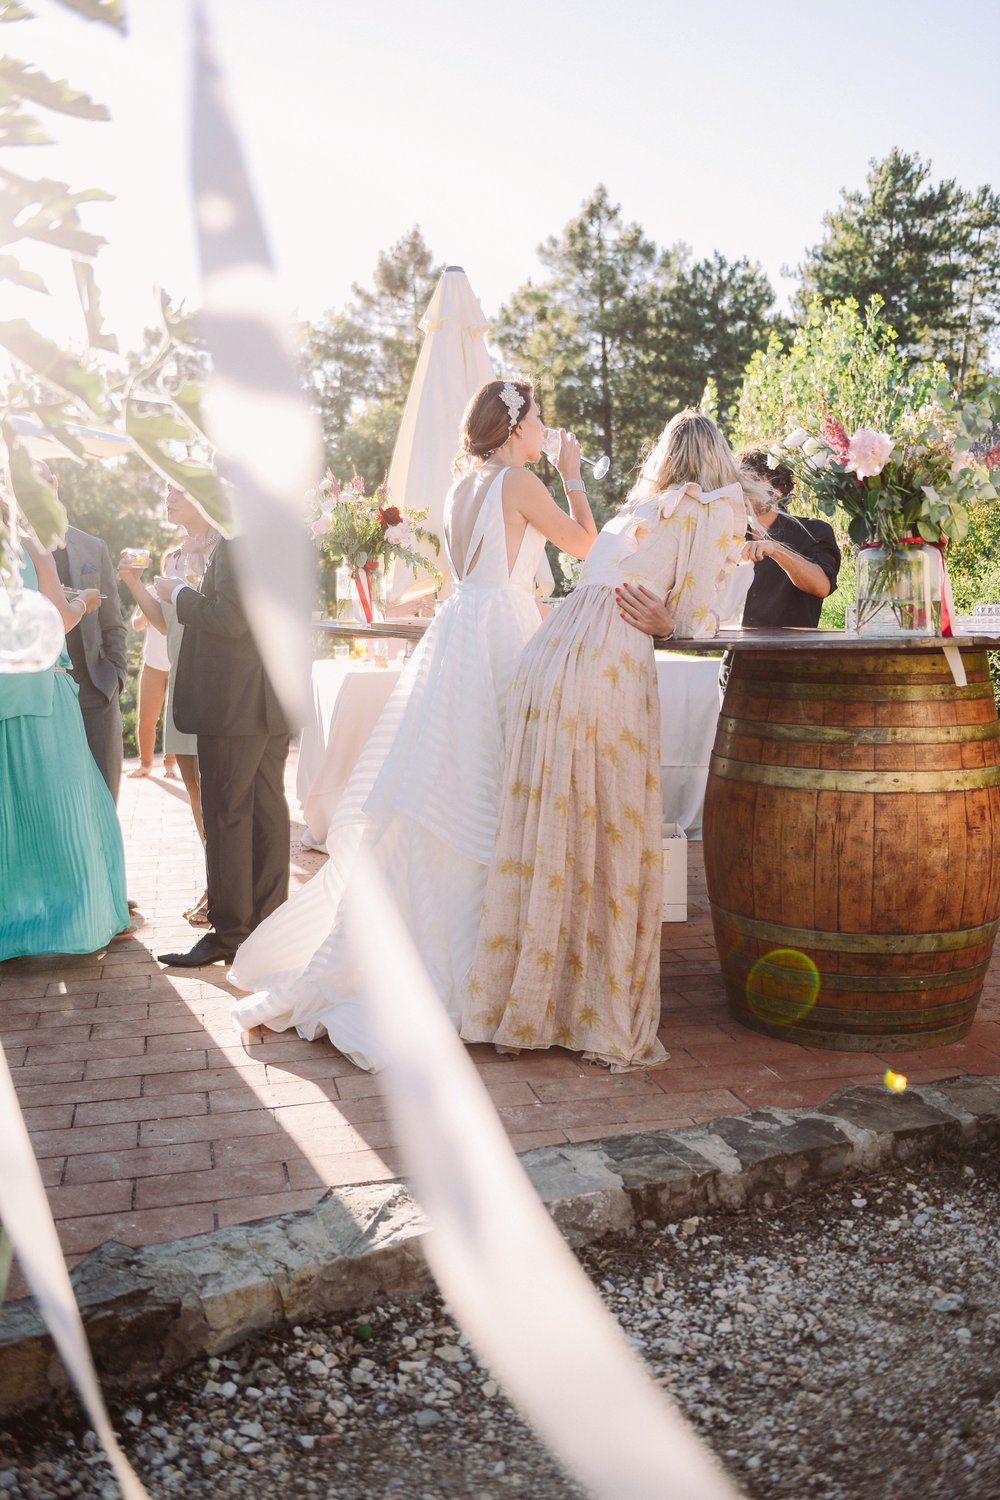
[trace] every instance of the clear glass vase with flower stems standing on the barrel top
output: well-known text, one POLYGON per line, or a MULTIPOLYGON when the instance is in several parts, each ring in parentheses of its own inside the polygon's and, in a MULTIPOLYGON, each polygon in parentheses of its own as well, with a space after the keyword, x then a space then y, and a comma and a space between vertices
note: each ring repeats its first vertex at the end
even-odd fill
POLYGON ((940 636, 942 552, 930 542, 858 554, 859 636, 940 636))

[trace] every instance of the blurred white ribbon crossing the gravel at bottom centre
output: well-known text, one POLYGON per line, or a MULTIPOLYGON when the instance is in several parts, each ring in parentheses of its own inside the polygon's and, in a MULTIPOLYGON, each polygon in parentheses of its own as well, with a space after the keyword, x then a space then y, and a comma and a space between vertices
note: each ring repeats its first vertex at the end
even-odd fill
POLYGON ((457 1322, 601 1500, 736 1500, 657 1390, 528 1180, 370 858, 348 897, 385 1094, 457 1322))

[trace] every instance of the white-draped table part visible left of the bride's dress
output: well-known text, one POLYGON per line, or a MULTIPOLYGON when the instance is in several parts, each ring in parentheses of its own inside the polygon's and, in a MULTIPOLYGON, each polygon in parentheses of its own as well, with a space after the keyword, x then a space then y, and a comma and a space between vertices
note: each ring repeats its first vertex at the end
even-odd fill
POLYGON ((402 666, 313 662, 312 702, 298 742, 295 794, 307 837, 322 849, 333 810, 366 740, 378 723, 402 666))

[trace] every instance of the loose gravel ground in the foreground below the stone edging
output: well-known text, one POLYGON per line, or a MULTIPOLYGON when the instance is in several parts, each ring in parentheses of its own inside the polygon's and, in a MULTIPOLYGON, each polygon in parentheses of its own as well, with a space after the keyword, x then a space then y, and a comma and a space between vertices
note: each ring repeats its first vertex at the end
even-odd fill
MULTIPOLYGON (((996 1500, 999 1188, 996 1154, 943 1158, 582 1258, 745 1496, 996 1500)), ((582 1494, 435 1298, 253 1340, 112 1418, 154 1497, 582 1494)), ((93 1432, 46 1416, 0 1432, 0 1494, 117 1486, 93 1432)))

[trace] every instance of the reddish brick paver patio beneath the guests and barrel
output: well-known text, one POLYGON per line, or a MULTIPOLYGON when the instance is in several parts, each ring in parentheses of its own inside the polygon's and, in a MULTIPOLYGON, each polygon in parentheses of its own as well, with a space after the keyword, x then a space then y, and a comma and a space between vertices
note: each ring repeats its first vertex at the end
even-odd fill
MULTIPOLYGON (((297 810, 292 780, 294 762, 297 810)), ((67 1262, 109 1239, 199 1234, 397 1176, 373 1077, 327 1041, 240 1034, 222 964, 181 976, 153 958, 198 936, 180 915, 204 884, 181 783, 124 780, 120 816, 133 934, 87 957, 0 964, 0 1036, 67 1262)), ((318 864, 294 843, 294 882, 318 864)), ((888 1065, 913 1082, 1000 1074, 1000 958, 972 1032, 951 1047, 876 1056, 754 1035, 726 1012, 696 843, 688 921, 663 928, 661 1036, 670 1062, 651 1074, 612 1076, 564 1052, 472 1053, 517 1150, 819 1104, 888 1065)), ((16 1270, 7 1294, 24 1294, 16 1270)))

